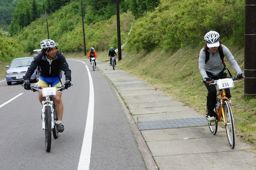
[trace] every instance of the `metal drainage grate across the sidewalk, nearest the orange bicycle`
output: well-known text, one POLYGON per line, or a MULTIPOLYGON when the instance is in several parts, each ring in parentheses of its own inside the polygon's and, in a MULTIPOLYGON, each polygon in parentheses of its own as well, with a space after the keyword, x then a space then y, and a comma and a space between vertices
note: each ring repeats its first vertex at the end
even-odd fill
POLYGON ((154 130, 154 129, 170 129, 181 127, 194 127, 207 125, 205 117, 197 118, 183 118, 183 119, 167 119, 167 120, 149 120, 139 121, 136 125, 140 130, 154 130))

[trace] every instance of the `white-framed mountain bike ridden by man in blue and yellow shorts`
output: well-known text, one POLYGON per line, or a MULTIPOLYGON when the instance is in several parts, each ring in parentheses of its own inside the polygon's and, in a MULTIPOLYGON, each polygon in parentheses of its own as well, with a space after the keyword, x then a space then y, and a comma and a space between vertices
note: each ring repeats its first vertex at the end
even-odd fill
POLYGON ((59 136, 57 121, 58 116, 56 113, 56 105, 54 103, 54 95, 56 95, 57 91, 63 91, 65 89, 64 86, 61 87, 45 87, 41 88, 31 86, 31 90, 33 92, 42 89, 43 97, 46 97, 45 100, 42 101, 42 129, 45 130, 45 148, 46 151, 50 151, 51 141, 52 141, 52 132, 54 139, 57 139, 59 136), (59 90, 57 90, 59 88, 59 90), (51 132, 52 131, 52 132, 51 132))

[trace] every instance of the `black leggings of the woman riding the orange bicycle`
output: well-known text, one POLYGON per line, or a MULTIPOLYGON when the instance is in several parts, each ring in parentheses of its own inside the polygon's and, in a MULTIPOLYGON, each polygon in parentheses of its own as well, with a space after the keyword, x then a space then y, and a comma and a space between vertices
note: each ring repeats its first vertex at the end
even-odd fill
MULTIPOLYGON (((209 75, 208 75, 209 76, 209 75)), ((223 73, 222 75, 218 76, 218 77, 211 77, 210 78, 213 79, 222 79, 222 78, 227 78, 227 73, 223 73)), ((208 96, 207 96, 207 108, 208 108, 208 115, 215 115, 214 112, 214 108, 216 106, 216 95, 217 95, 217 90, 215 85, 209 85, 208 83, 204 82, 204 84, 206 85, 206 88, 208 90, 208 96)), ((227 98, 231 98, 230 95, 230 90, 229 88, 225 89, 226 91, 226 97, 227 98)))

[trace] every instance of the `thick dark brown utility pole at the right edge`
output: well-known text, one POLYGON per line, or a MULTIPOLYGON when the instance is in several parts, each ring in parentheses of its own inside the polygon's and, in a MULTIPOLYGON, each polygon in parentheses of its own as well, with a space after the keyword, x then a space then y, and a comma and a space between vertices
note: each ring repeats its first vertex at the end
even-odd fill
POLYGON ((244 95, 256 95, 256 0, 245 0, 244 95))

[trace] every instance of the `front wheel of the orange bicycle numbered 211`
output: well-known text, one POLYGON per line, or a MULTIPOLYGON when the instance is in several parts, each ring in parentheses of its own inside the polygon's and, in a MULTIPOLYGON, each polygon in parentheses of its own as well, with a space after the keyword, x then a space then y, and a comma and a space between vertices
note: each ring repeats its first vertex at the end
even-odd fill
POLYGON ((226 131, 227 131, 227 136, 228 136, 228 142, 231 148, 235 147, 235 126, 234 126, 234 119, 233 119, 233 114, 232 110, 230 107, 229 102, 226 100, 224 102, 224 114, 225 114, 225 119, 226 119, 226 131))

